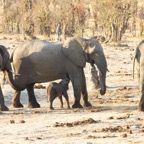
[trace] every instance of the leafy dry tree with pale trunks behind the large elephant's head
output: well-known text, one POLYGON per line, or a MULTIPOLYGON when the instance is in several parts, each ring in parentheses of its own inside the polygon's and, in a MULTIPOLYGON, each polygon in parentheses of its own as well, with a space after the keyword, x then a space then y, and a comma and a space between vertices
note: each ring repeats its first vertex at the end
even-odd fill
POLYGON ((130 8, 130 3, 122 0, 97 0, 93 3, 96 26, 102 27, 108 41, 121 40, 128 27, 130 8))

